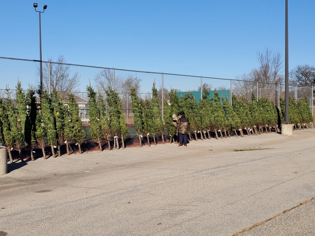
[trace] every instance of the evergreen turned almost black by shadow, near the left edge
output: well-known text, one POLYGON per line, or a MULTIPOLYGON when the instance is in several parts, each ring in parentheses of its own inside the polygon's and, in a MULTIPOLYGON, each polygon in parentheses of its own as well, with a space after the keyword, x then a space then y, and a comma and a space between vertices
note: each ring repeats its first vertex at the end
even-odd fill
POLYGON ((27 104, 27 116, 25 120, 25 131, 24 137, 25 142, 30 148, 31 160, 34 159, 33 149, 35 143, 35 131, 36 131, 36 97, 35 91, 32 89, 28 89, 26 94, 26 104, 27 104))

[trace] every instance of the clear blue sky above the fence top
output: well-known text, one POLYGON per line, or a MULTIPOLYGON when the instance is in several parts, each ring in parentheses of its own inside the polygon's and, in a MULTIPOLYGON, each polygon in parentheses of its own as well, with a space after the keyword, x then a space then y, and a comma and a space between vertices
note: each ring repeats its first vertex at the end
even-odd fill
MULTIPOLYGON (((289 70, 315 65, 315 1, 289 1, 289 70)), ((39 59, 36 0, 1 0, 0 57, 39 59)), ((37 0, 42 59, 234 79, 284 59, 285 0, 37 0)))

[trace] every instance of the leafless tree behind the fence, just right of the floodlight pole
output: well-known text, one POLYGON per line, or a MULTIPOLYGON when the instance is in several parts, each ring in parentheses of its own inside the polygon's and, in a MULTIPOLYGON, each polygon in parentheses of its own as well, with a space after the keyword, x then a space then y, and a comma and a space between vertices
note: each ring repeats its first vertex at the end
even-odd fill
POLYGON ((77 72, 71 74, 70 65, 66 64, 63 56, 59 56, 57 62, 52 59, 43 67, 44 89, 58 91, 59 94, 75 91, 79 86, 79 75, 77 72))

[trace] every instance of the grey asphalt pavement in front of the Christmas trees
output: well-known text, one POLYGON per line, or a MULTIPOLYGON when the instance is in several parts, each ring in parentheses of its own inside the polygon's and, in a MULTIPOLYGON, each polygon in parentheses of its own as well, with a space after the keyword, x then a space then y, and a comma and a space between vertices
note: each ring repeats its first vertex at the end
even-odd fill
POLYGON ((8 164, 0 236, 313 236, 315 129, 8 164))

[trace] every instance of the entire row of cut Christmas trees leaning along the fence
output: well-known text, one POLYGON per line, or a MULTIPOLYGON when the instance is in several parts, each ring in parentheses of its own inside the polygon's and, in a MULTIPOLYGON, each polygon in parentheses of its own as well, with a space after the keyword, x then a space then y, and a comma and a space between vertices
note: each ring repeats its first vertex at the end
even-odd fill
MULTIPOLYGON (((102 94, 96 93, 91 87, 87 87, 88 107, 90 118, 90 136, 98 143, 102 150, 102 140, 108 142, 114 138, 114 147, 119 148, 119 139, 125 148, 125 138, 128 128, 121 106, 121 100, 116 91, 108 88, 106 100, 109 105, 108 113, 105 110, 104 98, 102 94)), ((31 159, 33 157, 34 146, 42 149, 43 158, 46 158, 45 146, 51 147, 52 156, 55 157, 55 148, 58 155, 61 153, 61 145, 66 144, 66 151, 69 154, 69 143, 78 145, 81 153, 81 144, 86 140, 86 134, 79 116, 79 107, 72 93, 66 94, 67 102, 63 101, 57 91, 53 91, 49 96, 45 90, 39 90, 40 106, 36 103, 35 91, 29 89, 26 93, 18 82, 15 98, 11 97, 11 92, 6 89, 7 98, 0 98, 0 142, 5 145, 9 159, 13 162, 11 150, 16 149, 20 153, 23 148, 30 149, 31 159)), ((232 106, 228 98, 220 98, 215 90, 214 98, 209 98, 209 91, 203 90, 203 97, 197 103, 191 93, 186 93, 184 97, 178 97, 177 91, 171 89, 170 105, 164 101, 163 118, 159 106, 158 90, 155 83, 152 87, 152 97, 141 99, 136 94, 136 89, 131 88, 131 104, 134 116, 134 128, 139 137, 140 146, 143 137, 150 146, 150 139, 156 144, 156 137, 159 136, 164 141, 164 134, 168 133, 170 142, 176 133, 172 115, 184 111, 189 118, 190 133, 194 139, 206 139, 211 137, 211 133, 216 138, 230 136, 230 132, 235 135, 259 134, 271 132, 272 128, 278 130, 284 116, 284 100, 281 100, 280 111, 275 104, 267 98, 256 99, 252 95, 252 102, 244 96, 232 96, 232 106), (166 129, 166 130, 165 130, 166 129), (265 131, 264 131, 265 130, 265 131)), ((64 95, 64 94, 63 94, 64 95)), ((289 100, 289 121, 295 128, 301 128, 313 122, 313 117, 306 99, 301 99, 297 103, 294 99, 289 100), (305 125, 303 125, 305 124, 305 125)), ((191 135, 189 138, 191 140, 191 135)), ((23 158, 21 157, 23 161, 23 158)))

